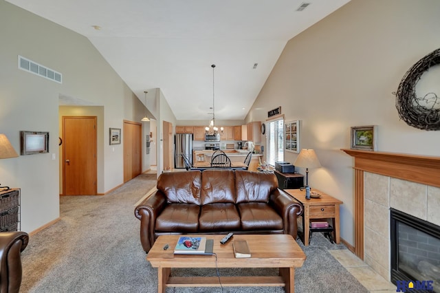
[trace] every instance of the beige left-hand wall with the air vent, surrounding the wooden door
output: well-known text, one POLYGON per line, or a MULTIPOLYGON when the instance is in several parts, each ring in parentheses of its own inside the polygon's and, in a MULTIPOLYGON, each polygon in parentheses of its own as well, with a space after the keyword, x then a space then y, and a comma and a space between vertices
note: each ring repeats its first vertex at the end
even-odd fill
POLYGON ((50 132, 50 153, 0 160, 0 183, 21 188, 21 230, 32 232, 59 217, 59 100, 102 108, 98 193, 123 182, 122 145, 113 151, 109 127, 140 121, 144 108, 84 36, 3 0, 0 39, 0 133, 19 151, 19 131, 50 132), (63 83, 18 69, 18 55, 61 72, 63 83))

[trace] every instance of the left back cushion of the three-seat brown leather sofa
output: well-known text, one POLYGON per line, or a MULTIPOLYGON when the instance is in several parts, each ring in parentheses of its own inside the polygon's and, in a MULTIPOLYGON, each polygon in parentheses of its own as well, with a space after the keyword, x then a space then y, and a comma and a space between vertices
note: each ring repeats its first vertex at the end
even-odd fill
POLYGON ((168 203, 200 205, 201 172, 166 172, 157 178, 157 189, 168 203))

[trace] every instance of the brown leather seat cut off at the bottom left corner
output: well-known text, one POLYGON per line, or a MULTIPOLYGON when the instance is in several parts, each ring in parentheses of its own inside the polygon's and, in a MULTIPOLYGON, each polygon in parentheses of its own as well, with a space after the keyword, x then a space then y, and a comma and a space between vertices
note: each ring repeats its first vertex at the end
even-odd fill
POLYGON ((21 285, 21 252, 28 246, 26 232, 0 232, 0 293, 18 293, 21 285))

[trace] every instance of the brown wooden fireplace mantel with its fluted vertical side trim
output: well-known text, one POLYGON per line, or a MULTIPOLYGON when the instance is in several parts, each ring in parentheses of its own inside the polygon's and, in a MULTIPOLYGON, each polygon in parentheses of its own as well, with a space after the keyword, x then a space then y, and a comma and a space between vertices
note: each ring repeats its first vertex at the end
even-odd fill
POLYGON ((364 171, 440 187, 440 157, 342 149, 355 158, 355 254, 364 259, 364 171))

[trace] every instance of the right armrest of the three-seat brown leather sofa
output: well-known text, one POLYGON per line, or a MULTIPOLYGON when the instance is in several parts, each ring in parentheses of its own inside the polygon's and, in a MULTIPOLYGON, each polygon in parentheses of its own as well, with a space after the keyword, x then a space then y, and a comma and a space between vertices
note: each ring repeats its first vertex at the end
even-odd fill
POLYGON ((298 224, 296 219, 303 214, 303 206, 285 191, 277 188, 269 198, 269 204, 283 217, 285 234, 292 235, 296 239, 298 224))

